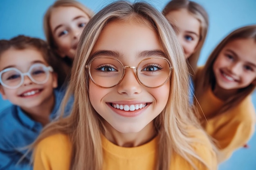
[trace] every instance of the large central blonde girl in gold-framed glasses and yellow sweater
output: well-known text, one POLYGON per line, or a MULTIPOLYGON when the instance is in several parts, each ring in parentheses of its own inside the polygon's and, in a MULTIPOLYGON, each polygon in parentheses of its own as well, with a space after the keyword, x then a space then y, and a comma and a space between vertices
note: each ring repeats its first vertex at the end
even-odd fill
POLYGON ((185 95, 187 67, 173 35, 143 2, 113 2, 94 15, 65 96, 74 93, 72 114, 33 144, 34 169, 215 170, 216 155, 185 95))

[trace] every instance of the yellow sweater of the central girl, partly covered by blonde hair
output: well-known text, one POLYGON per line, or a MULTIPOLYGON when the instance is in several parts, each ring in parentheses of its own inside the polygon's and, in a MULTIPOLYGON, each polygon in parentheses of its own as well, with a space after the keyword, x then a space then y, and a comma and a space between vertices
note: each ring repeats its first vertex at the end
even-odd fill
MULTIPOLYGON (((195 144, 194 147, 196 152, 211 167, 211 170, 216 170, 216 155, 211 149, 208 139, 204 136, 199 138, 200 144, 195 144), (202 142, 206 145, 201 144, 202 142)), ((142 146, 124 148, 112 144, 108 139, 102 137, 103 170, 154 170, 157 141, 158 138, 155 137, 142 146)), ((67 135, 56 134, 43 139, 35 150, 34 170, 69 170, 71 150, 71 142, 67 135)), ((206 170, 199 161, 193 159, 193 162, 198 170, 206 170)), ((170 163, 170 170, 194 170, 187 161, 175 153, 172 155, 170 163)))

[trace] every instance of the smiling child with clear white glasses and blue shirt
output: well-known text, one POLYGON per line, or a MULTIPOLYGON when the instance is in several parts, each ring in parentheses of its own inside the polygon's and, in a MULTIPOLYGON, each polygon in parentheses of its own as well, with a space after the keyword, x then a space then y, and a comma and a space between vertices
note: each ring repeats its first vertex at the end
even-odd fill
POLYGON ((24 147, 58 115, 64 96, 64 91, 55 90, 59 67, 43 40, 23 35, 0 40, 0 93, 12 103, 0 113, 0 169, 33 169, 31 153, 21 158, 24 147))

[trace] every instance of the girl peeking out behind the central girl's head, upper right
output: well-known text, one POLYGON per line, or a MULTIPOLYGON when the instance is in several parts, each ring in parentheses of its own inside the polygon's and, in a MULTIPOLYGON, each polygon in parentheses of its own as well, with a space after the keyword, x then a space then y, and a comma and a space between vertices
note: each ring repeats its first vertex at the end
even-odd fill
POLYGON ((162 13, 176 31, 188 61, 189 73, 195 75, 209 26, 207 11, 190 0, 171 0, 162 13))

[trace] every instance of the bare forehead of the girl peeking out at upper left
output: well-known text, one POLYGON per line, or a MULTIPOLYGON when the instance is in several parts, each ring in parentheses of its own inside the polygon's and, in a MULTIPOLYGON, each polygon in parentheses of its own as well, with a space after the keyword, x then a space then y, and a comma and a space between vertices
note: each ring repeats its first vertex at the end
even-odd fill
POLYGON ((52 9, 49 18, 51 28, 55 28, 59 24, 65 24, 72 21, 76 16, 83 16, 89 19, 89 16, 76 7, 56 7, 52 9))

